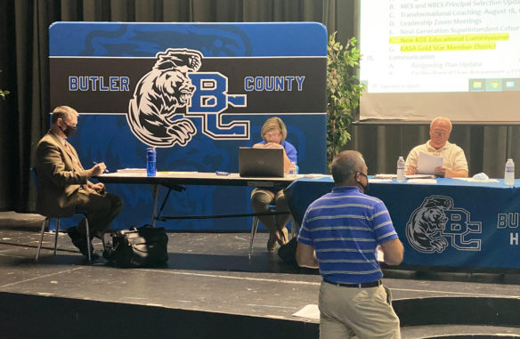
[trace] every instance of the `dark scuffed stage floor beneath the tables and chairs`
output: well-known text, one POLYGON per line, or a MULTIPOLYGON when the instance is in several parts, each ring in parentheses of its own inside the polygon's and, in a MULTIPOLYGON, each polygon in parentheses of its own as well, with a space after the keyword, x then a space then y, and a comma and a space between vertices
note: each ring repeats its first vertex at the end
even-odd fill
MULTIPOLYGON (((53 236, 45 236, 46 248, 35 262, 39 219, 8 219, 0 217, 1 293, 318 323, 312 315, 301 318, 293 314, 318 303, 320 275, 268 254, 266 233, 256 236, 251 258, 247 233, 168 233, 167 267, 120 269, 102 258, 87 264, 66 233, 60 233, 57 255, 51 251, 53 236)), ((94 241, 94 247, 101 254, 101 242, 94 241)), ((417 272, 385 273, 384 283, 393 291, 394 305, 435 297, 516 301, 520 296, 516 275, 439 273, 421 279, 417 272)), ((402 323, 407 320, 402 319, 402 323)), ((436 335, 463 331, 520 335, 520 328, 515 327, 440 324, 402 327, 402 337, 427 337, 424 335, 434 329, 436 335)))

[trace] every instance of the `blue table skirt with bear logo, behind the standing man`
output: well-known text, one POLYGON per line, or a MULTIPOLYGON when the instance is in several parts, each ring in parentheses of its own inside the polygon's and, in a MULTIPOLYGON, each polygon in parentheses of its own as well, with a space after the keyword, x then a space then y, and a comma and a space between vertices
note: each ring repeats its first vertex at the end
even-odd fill
MULTIPOLYGON (((305 209, 334 187, 330 177, 300 179, 287 191, 301 224, 305 209)), ((367 194, 385 202, 404 245, 404 265, 520 268, 520 181, 370 182, 367 194)))

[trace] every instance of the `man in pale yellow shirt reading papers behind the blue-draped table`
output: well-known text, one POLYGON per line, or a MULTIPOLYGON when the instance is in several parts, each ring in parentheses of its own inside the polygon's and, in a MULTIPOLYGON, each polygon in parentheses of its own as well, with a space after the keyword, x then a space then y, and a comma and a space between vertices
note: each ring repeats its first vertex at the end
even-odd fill
POLYGON ((464 150, 448 141, 450 133, 450 119, 435 117, 430 124, 431 139, 410 150, 406 157, 405 173, 407 175, 435 174, 445 178, 467 178, 467 160, 464 150), (442 165, 439 165, 439 158, 443 159, 442 165))

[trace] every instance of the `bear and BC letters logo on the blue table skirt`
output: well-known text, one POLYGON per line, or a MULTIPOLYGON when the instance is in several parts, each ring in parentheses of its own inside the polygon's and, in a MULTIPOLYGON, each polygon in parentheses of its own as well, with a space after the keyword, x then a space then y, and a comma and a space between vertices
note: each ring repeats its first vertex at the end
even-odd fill
POLYGON ((453 206, 453 199, 430 196, 410 215, 406 238, 422 253, 442 253, 448 245, 458 250, 480 251, 482 222, 471 222, 464 208, 453 206))

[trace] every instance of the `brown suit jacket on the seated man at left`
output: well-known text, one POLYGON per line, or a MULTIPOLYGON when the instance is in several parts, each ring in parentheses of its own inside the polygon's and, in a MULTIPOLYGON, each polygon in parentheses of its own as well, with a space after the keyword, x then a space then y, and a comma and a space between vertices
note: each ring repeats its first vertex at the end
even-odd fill
MULTIPOLYGON (((70 145, 70 144, 69 144, 70 145)), ((37 171, 37 213, 45 216, 67 217, 74 214, 77 190, 87 182, 87 172, 75 165, 76 149, 66 149, 63 139, 47 132, 38 141, 35 167, 37 171)))

